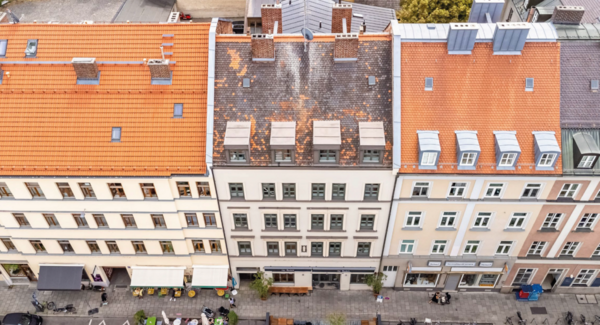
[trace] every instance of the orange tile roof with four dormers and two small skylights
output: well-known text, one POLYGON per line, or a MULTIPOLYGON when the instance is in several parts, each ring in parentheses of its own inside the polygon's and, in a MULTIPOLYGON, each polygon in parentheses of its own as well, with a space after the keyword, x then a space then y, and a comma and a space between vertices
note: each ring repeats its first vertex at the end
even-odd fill
POLYGON ((559 43, 527 43, 522 55, 493 55, 492 43, 476 43, 471 55, 448 55, 446 43, 402 43, 400 172, 560 174, 560 158, 555 171, 535 170, 531 134, 554 131, 560 145, 559 61, 559 43), (433 77, 433 91, 424 90, 427 77, 433 77), (535 78, 533 92, 525 91, 526 78, 535 78), (417 130, 439 131, 437 170, 418 169, 417 130), (456 169, 456 130, 478 132, 481 155, 476 170, 456 169), (492 168, 493 131, 517 131, 520 168, 492 168))

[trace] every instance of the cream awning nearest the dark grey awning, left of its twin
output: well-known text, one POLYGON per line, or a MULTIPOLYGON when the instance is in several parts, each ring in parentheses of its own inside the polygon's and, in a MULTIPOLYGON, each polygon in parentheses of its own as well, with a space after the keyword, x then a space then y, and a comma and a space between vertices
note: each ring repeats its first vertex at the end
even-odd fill
POLYGON ((132 266, 131 287, 182 288, 185 267, 132 266))

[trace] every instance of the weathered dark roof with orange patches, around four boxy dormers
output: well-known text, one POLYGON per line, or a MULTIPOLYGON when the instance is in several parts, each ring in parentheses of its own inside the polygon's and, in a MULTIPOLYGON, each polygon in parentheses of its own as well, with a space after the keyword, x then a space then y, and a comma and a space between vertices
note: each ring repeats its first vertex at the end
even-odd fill
MULTIPOLYGON (((300 40, 300 37, 298 37, 300 40)), ((340 166, 360 164, 359 122, 383 122, 382 164, 392 166, 391 42, 359 41, 356 63, 333 62, 327 42, 276 42, 275 62, 252 62, 251 43, 216 44, 214 155, 226 165, 223 146, 228 121, 251 121, 249 164, 272 165, 272 122, 296 122, 295 165, 313 165, 313 121, 340 121, 340 166), (368 50, 368 51, 367 51, 368 50), (367 76, 377 78, 369 86, 367 76), (249 88, 242 79, 251 78, 249 88)), ((338 167, 338 166, 336 166, 338 167)), ((373 168, 373 167, 371 167, 373 168)))

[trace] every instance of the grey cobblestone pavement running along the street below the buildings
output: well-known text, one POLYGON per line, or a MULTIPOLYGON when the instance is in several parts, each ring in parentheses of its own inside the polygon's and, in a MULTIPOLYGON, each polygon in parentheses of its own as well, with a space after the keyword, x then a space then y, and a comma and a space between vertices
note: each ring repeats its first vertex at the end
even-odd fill
MULTIPOLYGON (((8 312, 33 312, 31 295, 33 289, 15 286, 12 289, 0 288, 0 314, 8 312)), ((334 291, 315 290, 311 296, 271 296, 267 301, 261 301, 254 292, 242 288, 236 296, 238 308, 236 312, 242 319, 260 319, 267 312, 275 317, 294 318, 296 320, 325 319, 332 312, 342 312, 348 319, 370 319, 377 313, 384 321, 397 322, 416 318, 422 321, 431 318, 433 321, 455 323, 495 323, 502 324, 507 316, 513 316, 516 322, 516 312, 520 311, 530 325, 535 322, 542 325, 547 318, 547 325, 564 325, 564 314, 571 311, 579 320, 583 314, 592 321, 594 315, 600 315, 596 304, 579 304, 573 294, 543 294, 536 302, 517 302, 514 294, 500 293, 455 293, 450 305, 440 306, 428 304, 426 292, 403 292, 385 290, 384 297, 389 299, 377 303, 369 291, 334 291), (548 314, 532 315, 530 307, 546 307, 548 314), (558 323, 557 323, 558 320, 558 323)), ((596 295, 600 301, 600 295, 596 295)), ((54 301, 58 307, 74 304, 78 316, 87 316, 91 308, 100 307, 100 293, 94 291, 77 292, 40 292, 38 300, 54 301)), ((146 315, 160 316, 165 311, 169 317, 199 317, 203 305, 216 310, 220 306, 228 307, 225 299, 216 295, 213 290, 205 289, 196 298, 170 298, 146 296, 143 299, 132 297, 129 291, 108 292, 109 305, 100 308, 95 317, 132 317, 143 309, 146 315)), ((65 316, 69 317, 69 316, 65 316)))

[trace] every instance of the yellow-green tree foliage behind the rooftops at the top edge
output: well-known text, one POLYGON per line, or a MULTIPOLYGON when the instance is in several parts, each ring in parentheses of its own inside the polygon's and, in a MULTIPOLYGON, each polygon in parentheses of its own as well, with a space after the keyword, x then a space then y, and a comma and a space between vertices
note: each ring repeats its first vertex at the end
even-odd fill
POLYGON ((401 0, 396 17, 411 24, 466 22, 471 4, 473 0, 401 0))

